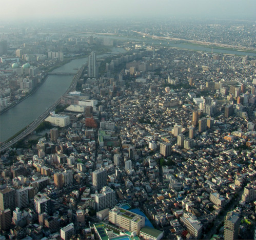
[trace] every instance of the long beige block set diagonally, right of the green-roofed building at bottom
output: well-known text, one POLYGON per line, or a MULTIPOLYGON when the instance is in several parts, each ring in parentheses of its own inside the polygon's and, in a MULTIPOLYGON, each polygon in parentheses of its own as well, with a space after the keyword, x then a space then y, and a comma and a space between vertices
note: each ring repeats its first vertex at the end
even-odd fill
POLYGON ((180 220, 192 237, 195 239, 201 239, 203 225, 196 219, 195 215, 184 212, 183 216, 180 217, 180 220))

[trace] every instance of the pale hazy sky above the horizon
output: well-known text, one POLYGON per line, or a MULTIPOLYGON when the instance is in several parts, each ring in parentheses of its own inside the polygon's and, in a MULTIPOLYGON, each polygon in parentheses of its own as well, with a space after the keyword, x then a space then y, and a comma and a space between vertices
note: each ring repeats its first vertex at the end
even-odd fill
POLYGON ((209 17, 256 20, 256 0, 1 0, 0 18, 209 17))

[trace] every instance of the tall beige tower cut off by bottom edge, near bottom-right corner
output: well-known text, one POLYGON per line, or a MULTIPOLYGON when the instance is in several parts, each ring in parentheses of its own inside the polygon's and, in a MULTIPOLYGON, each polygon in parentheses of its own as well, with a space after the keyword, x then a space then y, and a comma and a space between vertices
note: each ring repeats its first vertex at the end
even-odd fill
POLYGON ((224 239, 238 239, 239 225, 239 214, 233 211, 228 212, 224 222, 224 239))

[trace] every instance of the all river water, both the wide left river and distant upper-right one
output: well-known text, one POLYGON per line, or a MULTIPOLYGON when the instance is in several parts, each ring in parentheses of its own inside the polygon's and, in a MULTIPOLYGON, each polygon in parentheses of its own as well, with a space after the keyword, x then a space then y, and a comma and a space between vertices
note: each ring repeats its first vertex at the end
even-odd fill
MULTIPOLYGON (((83 34, 90 35, 90 34, 83 34)), ((103 37, 101 35, 93 35, 97 37, 103 37)), ((142 39, 135 37, 120 37, 120 36, 110 36, 111 39, 119 39, 119 40, 131 40, 131 41, 142 41, 142 39)), ((144 40, 144 39, 143 39, 144 40)), ((157 42, 162 43, 162 46, 166 47, 176 47, 188 50, 195 51, 203 51, 203 52, 211 52, 211 48, 206 48, 202 46, 197 46, 189 43, 168 43, 167 41, 160 41, 155 39, 146 39, 144 40, 148 44, 152 44, 157 42)), ((122 48, 112 48, 111 54, 103 54, 97 56, 97 58, 114 55, 119 53, 126 52, 122 48)), ((222 50, 222 49, 214 49, 213 53, 223 53, 223 54, 234 54, 234 55, 248 55, 248 56, 256 56, 256 53, 246 53, 232 50, 222 50)), ((83 64, 87 62, 86 58, 74 59, 69 63, 61 66, 53 70, 53 72, 68 72, 68 73, 76 73, 77 70, 83 64)), ((38 116, 40 116, 46 108, 48 108, 53 102, 55 102, 58 98, 60 98, 65 91, 68 89, 71 81, 73 79, 72 75, 50 75, 47 77, 43 85, 32 95, 26 98, 21 103, 12 107, 7 112, 0 115, 0 142, 4 142, 14 134, 16 134, 19 130, 23 129, 25 126, 33 122, 38 116)))

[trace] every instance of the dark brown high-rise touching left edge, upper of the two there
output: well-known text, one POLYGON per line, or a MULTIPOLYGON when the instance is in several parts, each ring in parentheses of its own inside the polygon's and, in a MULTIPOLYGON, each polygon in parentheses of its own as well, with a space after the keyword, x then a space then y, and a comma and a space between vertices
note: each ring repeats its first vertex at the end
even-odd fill
POLYGON ((15 207, 16 207, 15 190, 8 187, 6 187, 3 190, 0 190, 0 210, 5 210, 9 208, 11 211, 13 211, 15 207))

